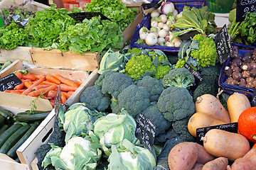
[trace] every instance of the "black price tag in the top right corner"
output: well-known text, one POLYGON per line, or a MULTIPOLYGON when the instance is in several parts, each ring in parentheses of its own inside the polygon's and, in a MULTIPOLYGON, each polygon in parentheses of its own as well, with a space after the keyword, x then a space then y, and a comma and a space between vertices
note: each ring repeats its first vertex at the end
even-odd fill
POLYGON ((236 7, 236 22, 242 22, 245 20, 247 12, 256 11, 256 1, 254 0, 237 0, 236 7))

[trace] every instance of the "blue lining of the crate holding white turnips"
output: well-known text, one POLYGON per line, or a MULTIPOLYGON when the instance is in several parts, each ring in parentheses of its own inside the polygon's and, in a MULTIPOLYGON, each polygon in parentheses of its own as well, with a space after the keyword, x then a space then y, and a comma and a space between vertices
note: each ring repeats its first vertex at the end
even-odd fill
MULTIPOLYGON (((174 3, 174 8, 180 13, 183 11, 184 6, 189 6, 189 7, 196 7, 196 8, 201 8, 203 6, 207 6, 207 2, 205 0, 167 0, 171 1, 174 3)), ((158 2, 157 0, 154 0, 152 2, 158 2)), ((150 13, 147 15, 144 15, 144 20, 139 23, 137 26, 134 35, 132 36, 132 40, 130 42, 130 46, 133 47, 139 47, 139 48, 148 48, 148 49, 154 49, 154 50, 164 50, 168 52, 178 52, 180 47, 168 47, 168 46, 162 46, 162 45, 154 45, 154 46, 149 46, 149 45, 144 45, 144 44, 137 44, 137 40, 139 40, 139 30, 142 27, 146 27, 148 29, 151 28, 151 16, 150 13)))

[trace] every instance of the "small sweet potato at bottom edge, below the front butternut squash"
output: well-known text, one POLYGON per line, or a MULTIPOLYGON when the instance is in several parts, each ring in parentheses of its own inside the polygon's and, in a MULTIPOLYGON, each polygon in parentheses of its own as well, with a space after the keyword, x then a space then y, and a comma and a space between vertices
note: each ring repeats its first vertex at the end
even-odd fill
POLYGON ((218 157, 213 161, 207 162, 203 165, 202 170, 226 170, 228 166, 228 158, 218 157))

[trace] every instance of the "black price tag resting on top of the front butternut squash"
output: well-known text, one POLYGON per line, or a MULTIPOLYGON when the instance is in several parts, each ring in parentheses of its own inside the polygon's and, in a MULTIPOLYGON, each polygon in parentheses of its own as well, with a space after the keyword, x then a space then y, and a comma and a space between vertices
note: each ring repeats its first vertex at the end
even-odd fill
POLYGON ((201 140, 201 137, 204 137, 206 135, 206 132, 208 132, 211 129, 219 129, 219 130, 225 130, 228 132, 238 132, 238 123, 227 123, 223 125, 215 125, 215 126, 209 126, 206 128, 197 128, 196 129, 196 142, 200 145, 203 145, 203 141, 201 140))

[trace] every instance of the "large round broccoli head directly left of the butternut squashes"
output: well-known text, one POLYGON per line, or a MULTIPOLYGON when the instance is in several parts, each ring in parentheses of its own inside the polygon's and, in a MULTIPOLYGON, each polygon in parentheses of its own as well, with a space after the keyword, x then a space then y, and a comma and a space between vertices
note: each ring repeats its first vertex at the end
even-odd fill
POLYGON ((157 107, 169 121, 181 120, 195 113, 193 98, 183 87, 170 86, 164 89, 157 101, 157 107))

